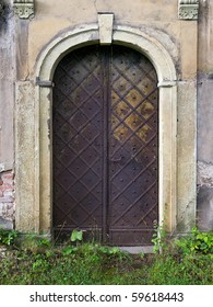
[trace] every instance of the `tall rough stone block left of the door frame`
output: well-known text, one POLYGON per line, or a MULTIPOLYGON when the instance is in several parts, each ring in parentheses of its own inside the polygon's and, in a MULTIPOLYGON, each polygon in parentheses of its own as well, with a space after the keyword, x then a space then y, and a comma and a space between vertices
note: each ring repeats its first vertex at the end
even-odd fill
POLYGON ((15 112, 15 226, 21 231, 34 231, 35 110, 32 82, 20 81, 16 83, 15 112))

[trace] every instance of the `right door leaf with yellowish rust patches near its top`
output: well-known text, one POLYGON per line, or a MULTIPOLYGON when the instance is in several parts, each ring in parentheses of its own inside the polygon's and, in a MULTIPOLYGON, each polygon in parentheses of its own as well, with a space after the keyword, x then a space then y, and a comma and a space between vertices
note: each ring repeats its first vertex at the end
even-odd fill
POLYGON ((109 238, 150 243, 158 216, 158 105, 155 70, 144 56, 117 47, 111 59, 109 238))

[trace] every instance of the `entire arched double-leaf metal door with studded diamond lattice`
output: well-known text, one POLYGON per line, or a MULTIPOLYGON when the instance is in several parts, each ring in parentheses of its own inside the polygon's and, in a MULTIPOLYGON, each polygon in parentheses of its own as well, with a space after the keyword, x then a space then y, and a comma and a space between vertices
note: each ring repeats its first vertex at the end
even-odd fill
POLYGON ((150 245, 158 217, 158 91, 128 47, 70 53, 55 72, 54 231, 150 245))

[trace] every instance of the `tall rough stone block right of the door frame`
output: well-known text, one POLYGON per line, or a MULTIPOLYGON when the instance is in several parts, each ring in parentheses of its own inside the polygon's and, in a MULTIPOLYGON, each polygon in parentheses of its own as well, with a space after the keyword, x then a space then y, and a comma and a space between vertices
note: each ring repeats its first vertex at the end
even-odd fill
POLYGON ((178 231, 196 225, 197 203, 197 90, 196 81, 178 84, 178 231))

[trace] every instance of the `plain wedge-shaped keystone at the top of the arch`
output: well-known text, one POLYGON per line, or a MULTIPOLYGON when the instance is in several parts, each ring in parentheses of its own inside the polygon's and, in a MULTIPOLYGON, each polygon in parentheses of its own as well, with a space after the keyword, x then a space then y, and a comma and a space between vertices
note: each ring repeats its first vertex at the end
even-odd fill
POLYGON ((114 13, 98 13, 99 44, 110 45, 113 39, 114 13))

